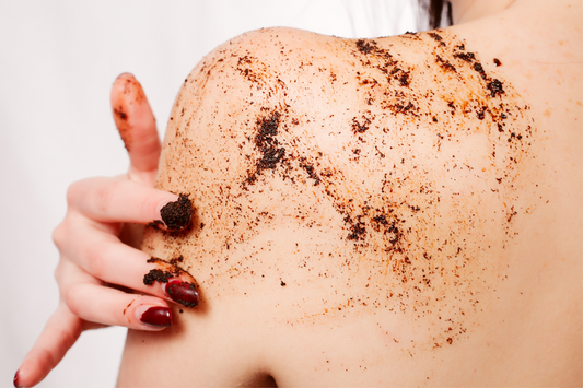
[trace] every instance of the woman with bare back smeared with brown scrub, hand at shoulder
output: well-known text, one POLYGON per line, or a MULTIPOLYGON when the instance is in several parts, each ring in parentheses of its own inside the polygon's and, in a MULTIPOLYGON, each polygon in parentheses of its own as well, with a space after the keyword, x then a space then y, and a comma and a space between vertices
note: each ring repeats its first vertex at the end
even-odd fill
POLYGON ((581 385, 581 4, 452 4, 442 31, 219 47, 160 164, 118 79, 130 173, 71 187, 62 303, 16 383, 96 322, 141 330, 119 385, 581 385), (117 222, 152 223, 145 252, 117 222))

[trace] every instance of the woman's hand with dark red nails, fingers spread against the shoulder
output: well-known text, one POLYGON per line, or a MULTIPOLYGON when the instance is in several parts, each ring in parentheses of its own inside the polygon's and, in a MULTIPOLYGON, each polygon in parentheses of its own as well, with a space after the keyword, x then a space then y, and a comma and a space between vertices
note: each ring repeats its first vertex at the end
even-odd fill
MULTIPOLYGON (((55 272, 60 304, 24 358, 15 386, 30 387, 43 380, 84 330, 109 325, 163 330, 172 325, 166 301, 187 307, 198 303, 195 281, 187 272, 162 260, 149 260, 147 254, 125 244, 132 239, 127 223, 154 222, 164 228, 171 222, 163 209, 182 205, 191 212, 191 205, 185 198, 153 188, 160 139, 150 105, 131 74, 117 78, 112 107, 130 156, 129 173, 81 180, 69 188, 67 215, 54 233, 60 251, 55 272), (166 223, 156 221, 160 219, 166 223), (126 293, 123 287, 155 296, 126 293)), ((183 226, 189 222, 190 213, 187 215, 183 226)))

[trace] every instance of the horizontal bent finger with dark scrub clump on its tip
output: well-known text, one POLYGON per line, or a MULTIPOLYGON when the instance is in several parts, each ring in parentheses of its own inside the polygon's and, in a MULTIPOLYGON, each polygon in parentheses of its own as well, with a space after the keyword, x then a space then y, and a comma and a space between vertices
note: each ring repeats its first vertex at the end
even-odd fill
POLYGON ((178 196, 123 178, 102 177, 72 184, 67 200, 70 208, 96 222, 147 224, 160 220, 161 210, 178 196))

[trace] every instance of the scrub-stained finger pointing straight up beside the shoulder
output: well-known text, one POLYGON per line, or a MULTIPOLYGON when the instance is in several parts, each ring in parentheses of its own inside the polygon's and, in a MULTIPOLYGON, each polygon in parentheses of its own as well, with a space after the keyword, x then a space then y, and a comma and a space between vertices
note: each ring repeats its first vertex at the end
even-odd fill
POLYGON ((130 176, 153 184, 161 151, 160 138, 150 104, 132 74, 123 73, 114 82, 112 109, 129 153, 130 176))

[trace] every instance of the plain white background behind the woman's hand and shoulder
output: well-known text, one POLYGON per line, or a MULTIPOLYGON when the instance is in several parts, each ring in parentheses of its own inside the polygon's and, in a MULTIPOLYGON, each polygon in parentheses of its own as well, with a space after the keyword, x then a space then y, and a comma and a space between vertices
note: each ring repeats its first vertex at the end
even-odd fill
MULTIPOLYGON (((415 0, 0 0, 0 387, 57 307, 51 231, 74 180, 128 157, 109 89, 142 83, 163 133, 185 77, 246 31, 293 26, 342 37, 416 31, 415 0)), ((126 330, 85 332, 42 387, 114 386, 126 330)))

